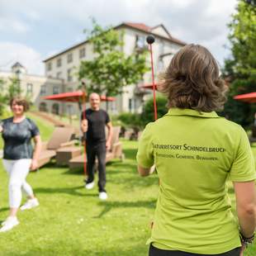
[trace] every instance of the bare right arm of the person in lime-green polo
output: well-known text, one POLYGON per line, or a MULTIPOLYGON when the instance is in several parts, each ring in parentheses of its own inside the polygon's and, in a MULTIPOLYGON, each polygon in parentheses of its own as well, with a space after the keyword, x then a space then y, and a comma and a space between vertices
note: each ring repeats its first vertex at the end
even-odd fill
POLYGON ((256 227, 256 192, 254 181, 234 182, 239 228, 244 237, 254 235, 256 227))

